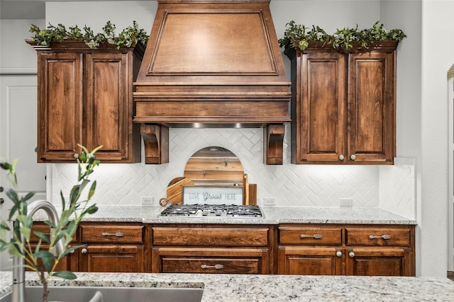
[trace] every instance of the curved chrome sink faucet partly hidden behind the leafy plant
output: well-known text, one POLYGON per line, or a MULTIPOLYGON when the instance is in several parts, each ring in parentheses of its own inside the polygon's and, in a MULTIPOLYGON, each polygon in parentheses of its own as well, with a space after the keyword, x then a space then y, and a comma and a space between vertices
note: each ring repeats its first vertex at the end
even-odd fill
MULTIPOLYGON (((43 209, 46 214, 48 214, 48 219, 52 221, 53 224, 58 223, 58 214, 55 207, 48 202, 47 200, 35 200, 31 204, 28 205, 28 216, 33 216, 36 211, 39 209, 43 209)), ((52 233, 52 229, 50 230, 52 233)), ((23 242, 24 238, 21 234, 21 242, 23 242)), ((61 238, 55 244, 55 252, 56 255, 60 255, 65 250, 65 238, 61 238)), ((21 249, 21 253, 23 254, 23 248, 21 249)), ((25 259, 13 256, 13 294, 12 294, 12 302, 25 302, 25 281, 26 281, 26 268, 25 268, 25 259)))

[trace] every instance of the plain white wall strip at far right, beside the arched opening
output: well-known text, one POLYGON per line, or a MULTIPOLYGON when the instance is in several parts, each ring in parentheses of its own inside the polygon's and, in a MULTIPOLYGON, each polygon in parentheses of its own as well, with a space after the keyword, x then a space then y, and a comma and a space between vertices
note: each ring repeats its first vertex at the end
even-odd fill
POLYGON ((448 230, 448 81, 454 1, 423 1, 421 69, 421 274, 443 276, 448 230), (443 262, 442 262, 443 261, 443 262))

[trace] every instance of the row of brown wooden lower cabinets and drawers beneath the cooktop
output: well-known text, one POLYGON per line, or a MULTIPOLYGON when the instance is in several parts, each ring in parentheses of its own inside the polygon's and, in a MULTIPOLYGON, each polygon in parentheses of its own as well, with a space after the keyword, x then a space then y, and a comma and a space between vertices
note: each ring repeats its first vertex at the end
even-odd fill
MULTIPOLYGON (((49 232, 35 223, 33 231, 49 232)), ((414 276, 415 226, 84 222, 57 270, 414 276)), ((31 243, 39 238, 32 233, 31 243)))

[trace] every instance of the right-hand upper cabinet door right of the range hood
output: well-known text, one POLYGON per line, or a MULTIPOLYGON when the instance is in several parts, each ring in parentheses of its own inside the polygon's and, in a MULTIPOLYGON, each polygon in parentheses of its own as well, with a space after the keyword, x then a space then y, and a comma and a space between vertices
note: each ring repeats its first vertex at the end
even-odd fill
POLYGON ((394 53, 350 54, 347 151, 350 162, 394 162, 394 53))

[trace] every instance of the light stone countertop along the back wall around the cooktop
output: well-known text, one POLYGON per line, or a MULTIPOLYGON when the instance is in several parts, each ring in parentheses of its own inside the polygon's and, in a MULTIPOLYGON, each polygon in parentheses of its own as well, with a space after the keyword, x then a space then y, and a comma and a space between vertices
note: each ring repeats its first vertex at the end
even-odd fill
MULTIPOLYGON (((84 217, 83 221, 111 221, 138 223, 224 223, 224 224, 278 224, 278 223, 365 223, 365 224, 416 224, 416 221, 379 208, 341 207, 260 207, 263 218, 191 218, 161 217, 160 206, 108 206, 84 217)), ((34 220, 45 220, 39 210, 34 220)))

